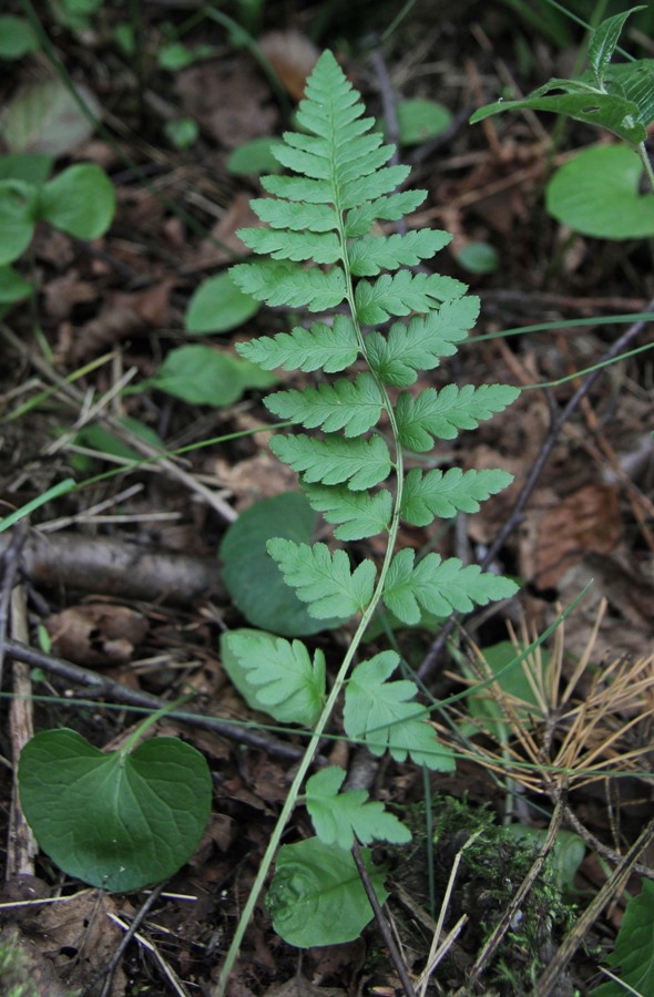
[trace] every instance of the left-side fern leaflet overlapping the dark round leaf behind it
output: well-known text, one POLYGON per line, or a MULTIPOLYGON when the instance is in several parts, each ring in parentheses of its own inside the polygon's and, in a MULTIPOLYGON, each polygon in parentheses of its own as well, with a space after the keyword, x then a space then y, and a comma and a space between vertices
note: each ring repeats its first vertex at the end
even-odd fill
POLYGON ((286 584, 309 604, 316 619, 349 619, 372 598, 376 568, 371 561, 362 561, 352 572, 345 551, 331 554, 326 544, 309 546, 280 537, 268 541, 267 549, 286 584))

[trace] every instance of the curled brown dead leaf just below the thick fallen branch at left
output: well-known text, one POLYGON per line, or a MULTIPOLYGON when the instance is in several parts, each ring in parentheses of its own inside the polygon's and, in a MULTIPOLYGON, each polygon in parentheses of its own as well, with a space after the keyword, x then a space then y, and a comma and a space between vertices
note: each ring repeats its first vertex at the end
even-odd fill
POLYGON ((85 603, 45 621, 53 650, 69 661, 96 668, 132 659, 149 628, 140 613, 111 603, 85 603))

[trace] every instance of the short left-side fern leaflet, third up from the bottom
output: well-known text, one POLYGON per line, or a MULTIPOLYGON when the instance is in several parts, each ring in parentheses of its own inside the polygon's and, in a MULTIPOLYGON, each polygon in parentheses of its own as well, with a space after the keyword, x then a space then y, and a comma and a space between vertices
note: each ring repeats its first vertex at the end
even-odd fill
POLYGON ((328 523, 339 523, 334 536, 341 541, 364 539, 388 528, 392 495, 380 492, 351 492, 347 485, 303 484, 303 491, 316 512, 328 523))

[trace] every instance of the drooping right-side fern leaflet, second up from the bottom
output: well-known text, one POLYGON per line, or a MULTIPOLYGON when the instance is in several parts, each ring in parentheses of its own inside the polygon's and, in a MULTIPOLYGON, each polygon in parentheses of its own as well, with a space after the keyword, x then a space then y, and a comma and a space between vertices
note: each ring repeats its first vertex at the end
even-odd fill
POLYGON ((348 738, 365 741, 372 754, 390 751, 396 761, 407 756, 438 772, 454 769, 452 752, 441 744, 423 707, 410 702, 416 685, 407 679, 386 681, 399 665, 395 651, 361 661, 345 692, 344 726, 348 738))

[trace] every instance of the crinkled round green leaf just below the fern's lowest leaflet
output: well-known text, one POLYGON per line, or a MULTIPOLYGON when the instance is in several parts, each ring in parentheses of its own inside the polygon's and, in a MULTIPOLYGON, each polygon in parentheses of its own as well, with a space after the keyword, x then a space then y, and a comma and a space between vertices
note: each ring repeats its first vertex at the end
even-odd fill
MULTIPOLYGON (((384 870, 361 854, 380 904, 388 896, 384 870)), ((372 919, 372 907, 350 852, 317 837, 282 845, 266 906, 273 927, 298 948, 341 945, 358 938, 372 919)))

